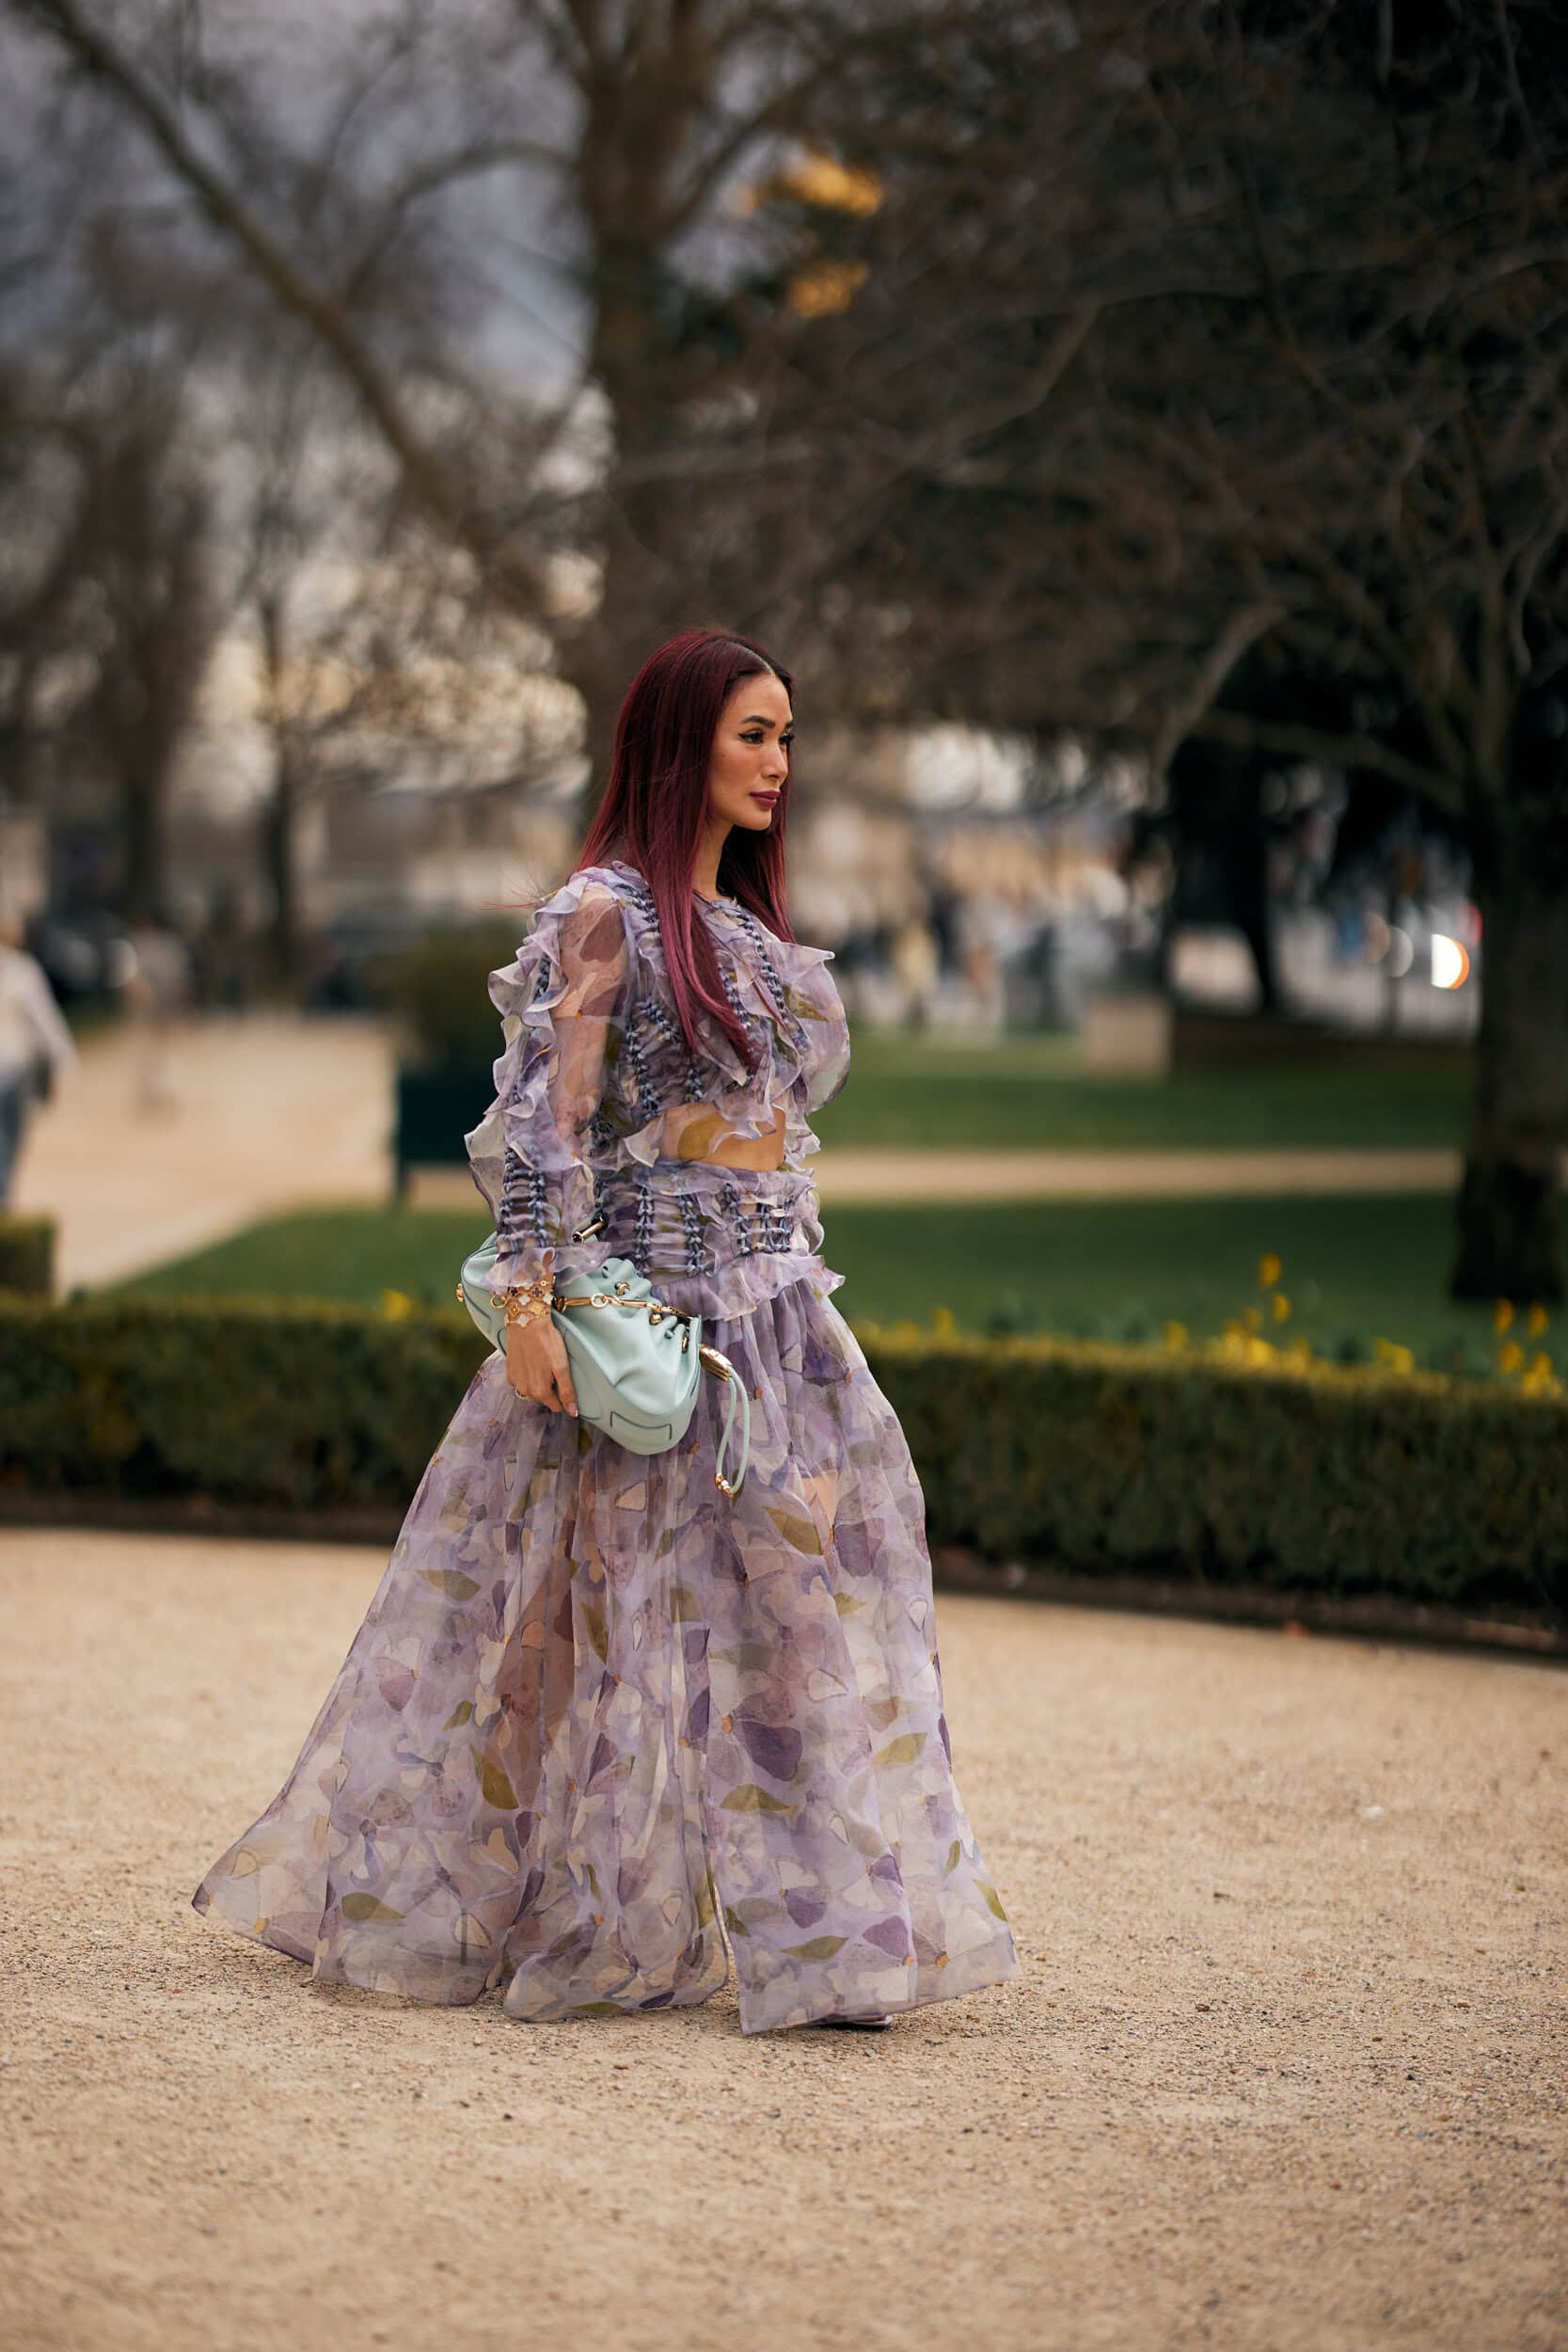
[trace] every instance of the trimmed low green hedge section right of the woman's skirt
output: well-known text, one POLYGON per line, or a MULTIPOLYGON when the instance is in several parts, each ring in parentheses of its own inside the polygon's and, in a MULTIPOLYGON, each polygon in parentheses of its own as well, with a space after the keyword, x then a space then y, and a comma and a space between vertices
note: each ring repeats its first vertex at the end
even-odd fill
POLYGON ((1568 1399, 1382 1367, 858 1334, 985 1559, 1568 1625, 1568 1399))

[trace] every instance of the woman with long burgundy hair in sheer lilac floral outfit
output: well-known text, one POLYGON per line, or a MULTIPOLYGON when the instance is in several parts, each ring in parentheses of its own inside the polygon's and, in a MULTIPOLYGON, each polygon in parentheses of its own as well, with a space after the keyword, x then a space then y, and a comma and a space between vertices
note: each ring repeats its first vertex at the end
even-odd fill
POLYGON ((489 978, 505 1049, 465 1143, 505 1357, 193 1898, 329 1983, 550 2020, 705 2002, 733 1957, 769 2032, 1018 1969, 952 1783, 922 1489, 818 1256, 806 1117, 849 1035, 783 903, 790 684, 722 630, 661 647, 578 868, 489 978), (576 1423, 548 1298, 607 1256, 745 1381, 733 1498, 717 1383, 668 1454, 576 1423))

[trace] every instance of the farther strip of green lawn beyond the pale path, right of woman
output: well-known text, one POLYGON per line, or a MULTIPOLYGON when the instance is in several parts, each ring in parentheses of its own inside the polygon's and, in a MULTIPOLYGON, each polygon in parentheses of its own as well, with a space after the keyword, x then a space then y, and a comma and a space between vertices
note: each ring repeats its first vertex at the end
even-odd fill
POLYGON ((856 1030, 823 1143, 882 1148, 1413 1148, 1465 1134, 1465 1047, 1356 1044, 1321 1063, 1088 1077, 1074 1035, 856 1030))

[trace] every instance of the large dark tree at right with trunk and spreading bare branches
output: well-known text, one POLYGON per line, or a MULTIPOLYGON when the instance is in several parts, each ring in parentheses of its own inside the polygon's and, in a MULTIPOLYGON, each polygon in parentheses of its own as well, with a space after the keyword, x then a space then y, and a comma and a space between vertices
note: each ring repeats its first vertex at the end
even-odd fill
POLYGON ((853 310, 799 355, 886 454, 837 583, 856 647, 905 708, 1072 720, 1157 771, 1187 741, 1316 757, 1462 828, 1483 1014, 1453 1291, 1556 1298, 1568 49, 1507 0, 1088 0, 1030 73, 1060 16, 987 21, 973 139, 889 174, 853 310), (1084 306, 1048 397, 1006 414, 1084 306), (943 376, 900 365, 910 308, 947 322, 943 376))

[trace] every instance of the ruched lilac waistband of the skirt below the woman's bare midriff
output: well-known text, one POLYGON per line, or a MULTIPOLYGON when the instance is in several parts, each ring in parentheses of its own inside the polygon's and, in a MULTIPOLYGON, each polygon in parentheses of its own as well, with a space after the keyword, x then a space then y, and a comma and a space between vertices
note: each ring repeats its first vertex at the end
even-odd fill
POLYGON ((557 1251, 588 1272, 630 1258, 682 1315, 748 1315, 790 1282, 832 1291, 820 1258, 816 1183, 804 1169, 731 1169, 715 1160, 656 1160, 595 1171, 597 1232, 557 1251))

